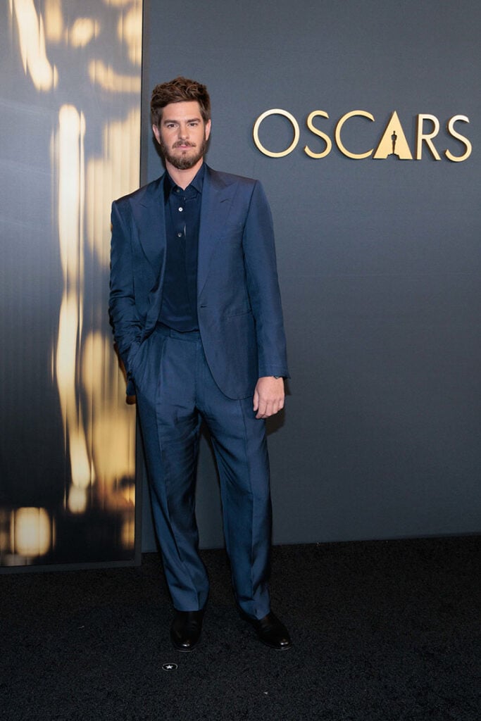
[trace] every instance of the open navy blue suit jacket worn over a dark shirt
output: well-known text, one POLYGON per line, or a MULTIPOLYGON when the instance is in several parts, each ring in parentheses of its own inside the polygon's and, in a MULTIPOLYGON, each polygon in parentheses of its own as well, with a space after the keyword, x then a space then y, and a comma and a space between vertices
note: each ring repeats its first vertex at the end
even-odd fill
MULTIPOLYGON (((112 203, 110 317, 134 382, 162 306, 162 178, 112 203)), ((198 323, 208 365, 227 397, 247 398, 261 376, 288 376, 273 224, 260 182, 206 166, 198 243, 198 323)))

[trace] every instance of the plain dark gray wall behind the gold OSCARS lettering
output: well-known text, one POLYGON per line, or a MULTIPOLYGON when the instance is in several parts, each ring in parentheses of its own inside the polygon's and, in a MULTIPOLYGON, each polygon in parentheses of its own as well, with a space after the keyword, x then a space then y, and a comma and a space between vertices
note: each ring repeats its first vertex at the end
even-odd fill
MULTIPOLYGON (((270 425, 275 543, 480 531, 481 212, 477 0, 150 0, 144 110, 156 82, 185 74, 213 102, 212 167, 262 180, 272 206, 292 379, 270 425), (252 141, 261 112, 280 107, 301 128, 273 159, 252 141), (441 160, 350 159, 334 138, 375 147, 397 110, 412 154, 415 119, 435 115, 441 160), (446 132, 453 115, 459 132, 446 132)), ((158 156, 144 112, 143 176, 158 156)), ((425 130, 430 127, 425 123, 425 130)), ((266 120, 279 151, 291 127, 266 120)), ((204 547, 222 543, 211 455, 200 457, 204 547)), ((144 502, 144 549, 154 547, 144 502)))

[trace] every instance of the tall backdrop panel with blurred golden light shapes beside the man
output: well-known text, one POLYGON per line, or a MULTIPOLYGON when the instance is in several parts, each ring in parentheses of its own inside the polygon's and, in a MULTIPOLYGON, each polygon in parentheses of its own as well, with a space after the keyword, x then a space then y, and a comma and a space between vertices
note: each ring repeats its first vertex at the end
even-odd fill
POLYGON ((0 572, 139 557, 107 300, 110 203, 138 185, 141 19, 141 0, 0 6, 0 572))

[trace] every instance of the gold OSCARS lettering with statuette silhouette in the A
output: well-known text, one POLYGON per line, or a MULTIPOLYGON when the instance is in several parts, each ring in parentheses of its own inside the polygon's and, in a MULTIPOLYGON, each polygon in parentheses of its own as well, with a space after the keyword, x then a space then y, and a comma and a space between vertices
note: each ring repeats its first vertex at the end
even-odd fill
MULTIPOLYGON (((354 153, 349 150, 343 142, 344 125, 348 122, 348 120, 350 120, 350 118, 356 118, 356 116, 368 118, 372 123, 374 123, 374 115, 367 110, 351 110, 350 112, 346 112, 342 118, 337 120, 334 131, 334 142, 337 149, 339 149, 340 152, 348 158, 353 158, 355 160, 362 160, 365 158, 386 159, 389 156, 394 156, 400 160, 420 160, 423 156, 423 148, 425 147, 435 160, 441 160, 441 155, 434 144, 434 138, 438 135, 440 128, 439 120, 436 118, 436 115, 420 114, 417 116, 415 147, 411 149, 409 143, 407 142, 405 132, 402 129, 397 112, 394 110, 377 145, 369 150, 363 151, 362 153, 354 153)), ((304 153, 310 158, 315 159, 325 158, 325 156, 329 155, 332 150, 332 139, 325 132, 319 130, 315 124, 317 118, 329 118, 329 115, 327 115, 325 110, 313 110, 306 118, 306 125, 309 131, 313 133, 314 136, 320 138, 324 144, 324 147, 322 147, 319 151, 312 150, 309 145, 304 146, 304 153)), ((469 123, 469 118, 467 118, 466 115, 453 115, 453 117, 449 118, 446 123, 446 130, 449 136, 454 138, 456 144, 459 146, 457 148, 458 153, 454 154, 449 149, 441 150, 441 153, 444 154, 448 160, 455 163, 467 160, 472 151, 472 145, 469 140, 456 129, 456 125, 458 123, 469 123)), ((290 154, 298 145, 301 135, 299 123, 296 118, 294 118, 294 115, 292 115, 291 112, 281 110, 280 108, 274 108, 273 110, 266 110, 265 112, 262 112, 262 115, 259 115, 255 121, 253 133, 254 143, 257 149, 270 158, 282 158, 283 156, 290 154), (287 118, 291 123, 294 133, 291 145, 279 152, 273 152, 266 148, 259 138, 260 125, 266 120, 266 118, 269 118, 270 115, 282 115, 284 118, 287 118)))

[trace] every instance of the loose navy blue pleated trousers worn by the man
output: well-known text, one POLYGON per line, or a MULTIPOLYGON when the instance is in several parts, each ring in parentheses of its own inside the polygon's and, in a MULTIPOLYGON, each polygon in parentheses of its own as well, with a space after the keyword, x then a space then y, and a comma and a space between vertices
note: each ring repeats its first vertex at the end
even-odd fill
POLYGON ((195 474, 202 418, 219 469, 224 537, 240 608, 270 611, 269 461, 252 397, 233 400, 208 368, 199 332, 159 325, 133 362, 138 415, 164 572, 177 611, 203 609, 208 576, 198 554, 195 474))

